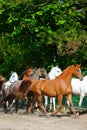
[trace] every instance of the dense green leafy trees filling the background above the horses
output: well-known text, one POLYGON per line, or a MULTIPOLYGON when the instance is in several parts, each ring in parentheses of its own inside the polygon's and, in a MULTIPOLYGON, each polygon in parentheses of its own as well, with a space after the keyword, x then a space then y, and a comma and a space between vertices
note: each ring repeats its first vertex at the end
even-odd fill
POLYGON ((0 0, 0 74, 87 69, 87 0, 0 0))

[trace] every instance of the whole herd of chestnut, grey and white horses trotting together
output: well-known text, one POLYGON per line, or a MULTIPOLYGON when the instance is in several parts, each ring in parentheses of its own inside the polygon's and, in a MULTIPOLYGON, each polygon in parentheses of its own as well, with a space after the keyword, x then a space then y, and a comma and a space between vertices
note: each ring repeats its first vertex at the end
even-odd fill
POLYGON ((2 92, 0 103, 3 104, 5 112, 8 112, 7 103, 11 109, 13 101, 15 101, 15 111, 17 112, 18 100, 25 99, 28 113, 34 111, 37 103, 39 109, 48 116, 46 110, 48 97, 50 97, 50 104, 53 101, 54 111, 52 115, 55 115, 61 110, 63 97, 66 96, 73 114, 77 117, 77 112, 72 102, 72 94, 81 95, 79 103, 79 107, 81 107, 83 97, 86 96, 87 92, 86 80, 87 77, 83 77, 81 73, 80 64, 70 65, 64 71, 61 71, 58 66, 52 67, 49 73, 47 73, 45 68, 36 69, 29 67, 22 73, 20 78, 18 78, 16 72, 12 72, 9 80, 0 75, 0 91, 2 92), (73 78, 73 76, 76 78, 73 78), (85 92, 82 88, 85 89, 85 92), (45 106, 42 102, 42 96, 45 99, 45 106), (58 99, 58 109, 55 106, 55 97, 58 99))

